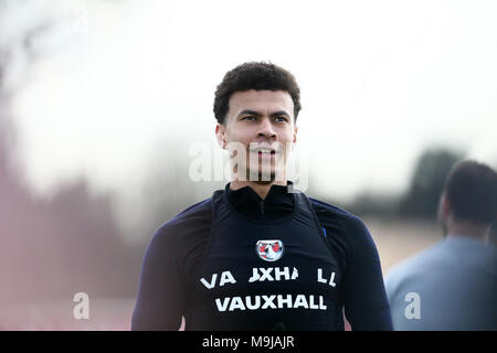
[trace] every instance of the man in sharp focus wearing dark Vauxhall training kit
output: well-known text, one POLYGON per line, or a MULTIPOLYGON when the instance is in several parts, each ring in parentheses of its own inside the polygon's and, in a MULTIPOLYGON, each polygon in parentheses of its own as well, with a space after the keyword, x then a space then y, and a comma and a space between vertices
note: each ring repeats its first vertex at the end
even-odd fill
MULTIPOLYGON (((232 181, 154 235, 133 330, 391 330, 378 252, 356 216, 293 190, 300 110, 294 76, 245 63, 214 115, 232 181)), ((324 161, 325 162, 325 161, 324 161)))

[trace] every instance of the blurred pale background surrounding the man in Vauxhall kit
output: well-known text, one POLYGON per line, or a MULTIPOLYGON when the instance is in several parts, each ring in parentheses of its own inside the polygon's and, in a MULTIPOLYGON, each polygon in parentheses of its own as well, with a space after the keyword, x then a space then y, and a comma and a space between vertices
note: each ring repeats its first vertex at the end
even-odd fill
POLYGON ((228 182, 191 180, 190 148, 219 153, 214 90, 246 61, 296 76, 305 191, 363 218, 383 274, 431 246, 452 164, 497 167, 496 18, 495 1, 0 0, 0 330, 129 329, 154 232, 228 182))

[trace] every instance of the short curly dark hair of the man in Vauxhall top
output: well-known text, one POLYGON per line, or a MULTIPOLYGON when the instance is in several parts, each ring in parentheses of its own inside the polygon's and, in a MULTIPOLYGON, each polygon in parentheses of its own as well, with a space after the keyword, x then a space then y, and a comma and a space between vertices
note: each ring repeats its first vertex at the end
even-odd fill
POLYGON ((294 101, 294 117, 300 111, 300 88, 292 73, 271 62, 247 62, 229 71, 218 85, 214 98, 214 117, 224 124, 230 109, 230 97, 235 92, 248 89, 285 90, 294 101))

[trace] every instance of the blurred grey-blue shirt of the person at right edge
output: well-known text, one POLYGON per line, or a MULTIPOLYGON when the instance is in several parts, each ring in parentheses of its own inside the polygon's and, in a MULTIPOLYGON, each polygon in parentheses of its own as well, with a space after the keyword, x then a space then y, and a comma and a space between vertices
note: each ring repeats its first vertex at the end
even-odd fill
POLYGON ((385 276, 394 330, 497 330, 497 248, 447 236, 385 276))

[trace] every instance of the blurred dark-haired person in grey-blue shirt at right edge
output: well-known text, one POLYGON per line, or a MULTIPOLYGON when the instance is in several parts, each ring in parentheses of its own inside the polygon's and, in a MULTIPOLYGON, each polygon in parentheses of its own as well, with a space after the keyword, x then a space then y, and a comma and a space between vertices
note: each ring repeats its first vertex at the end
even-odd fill
POLYGON ((444 239, 387 276, 395 330, 497 330, 497 174, 475 161, 457 163, 438 207, 444 239))

